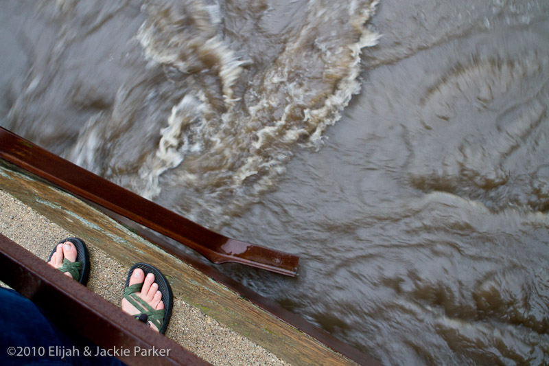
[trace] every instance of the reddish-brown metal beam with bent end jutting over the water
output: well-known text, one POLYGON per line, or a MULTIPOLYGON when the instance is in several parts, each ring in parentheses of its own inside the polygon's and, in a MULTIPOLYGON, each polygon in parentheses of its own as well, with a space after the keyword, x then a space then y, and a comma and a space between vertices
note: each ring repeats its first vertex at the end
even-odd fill
MULTIPOLYGON (((177 240, 215 264, 236 262, 282 275, 296 275, 298 256, 215 233, 1 127, 0 158, 76 196, 177 240)), ((170 251, 169 248, 165 250, 170 251)))

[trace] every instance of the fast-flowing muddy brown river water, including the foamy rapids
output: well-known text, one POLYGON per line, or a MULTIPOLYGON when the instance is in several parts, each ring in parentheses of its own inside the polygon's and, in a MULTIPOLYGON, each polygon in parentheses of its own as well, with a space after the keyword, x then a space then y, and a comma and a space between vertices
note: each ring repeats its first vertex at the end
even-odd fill
POLYGON ((3 2, 1 126, 301 255, 221 268, 383 363, 549 362, 547 1, 98 4, 3 2))

